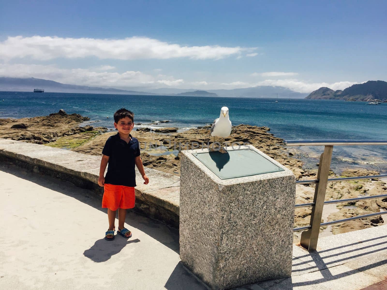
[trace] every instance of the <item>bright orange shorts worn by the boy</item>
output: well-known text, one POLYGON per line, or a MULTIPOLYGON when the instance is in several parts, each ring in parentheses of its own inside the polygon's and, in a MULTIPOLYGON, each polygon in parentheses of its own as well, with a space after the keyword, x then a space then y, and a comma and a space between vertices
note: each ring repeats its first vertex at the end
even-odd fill
POLYGON ((134 208, 134 187, 105 183, 102 197, 102 208, 134 208))

